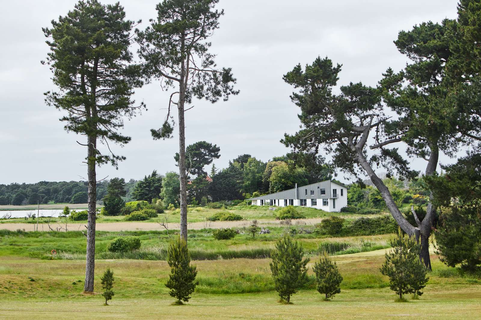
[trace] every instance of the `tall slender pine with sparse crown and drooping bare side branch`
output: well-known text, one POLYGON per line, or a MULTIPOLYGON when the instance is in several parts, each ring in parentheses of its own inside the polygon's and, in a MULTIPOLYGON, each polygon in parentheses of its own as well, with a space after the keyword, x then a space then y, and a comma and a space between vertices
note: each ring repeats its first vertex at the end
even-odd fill
POLYGON ((176 87, 168 100, 167 116, 161 128, 152 129, 154 139, 173 136, 178 127, 180 174, 180 235, 187 240, 187 174, 185 147, 185 105, 192 98, 215 103, 237 95, 236 79, 230 68, 217 68, 215 55, 209 52, 208 39, 219 27, 224 11, 215 9, 218 0, 164 0, 157 4, 157 20, 138 31, 139 56, 144 60, 147 79, 160 79, 165 87, 176 87), (177 98, 175 98, 176 96, 177 98), (177 123, 172 107, 177 107, 177 123))

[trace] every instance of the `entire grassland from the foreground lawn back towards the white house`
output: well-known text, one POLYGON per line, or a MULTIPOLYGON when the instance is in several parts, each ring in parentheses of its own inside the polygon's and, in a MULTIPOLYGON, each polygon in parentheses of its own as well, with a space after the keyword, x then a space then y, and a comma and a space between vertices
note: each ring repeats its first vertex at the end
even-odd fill
MULTIPOLYGON (((360 215, 325 213, 301 208, 307 219, 280 225, 267 208, 231 208, 244 221, 207 222, 219 209, 191 210, 188 246, 197 266, 199 285, 185 306, 172 306, 165 282, 170 269, 165 261, 168 242, 177 237, 178 214, 166 212, 148 222, 115 221, 123 217, 99 217, 96 233, 94 295, 85 295, 85 222, 69 225, 68 232, 31 232, 22 226, 0 226, 0 319, 477 319, 481 314, 481 276, 445 266, 431 250, 433 272, 418 300, 394 302, 387 277, 379 268, 389 250, 392 235, 328 237, 299 233, 328 215, 347 221, 360 215), (169 230, 155 222, 163 216, 169 230), (215 240, 219 227, 245 226, 257 219, 270 234, 255 238, 240 234, 231 240, 215 240), (75 228, 74 228, 75 227, 75 228), (101 231, 101 228, 107 228, 101 231), (6 230, 5 228, 10 229, 6 230), (142 228, 144 231, 142 231, 142 228), (149 229, 150 228, 150 229, 149 229), (140 230, 136 230, 140 229, 140 230), (154 230, 152 230, 154 229, 154 230), (18 231, 17 231, 18 230, 18 231), (125 231, 132 230, 132 231, 125 231), (147 231, 152 230, 152 231, 147 231), (279 304, 269 268, 270 249, 285 232, 293 232, 311 259, 309 281, 292 296, 293 305, 279 304), (115 237, 137 236, 141 247, 128 253, 112 253, 107 246, 115 237), (50 252, 57 250, 56 255, 50 252), (315 290, 312 266, 327 250, 343 277, 342 292, 324 302, 315 290), (103 306, 100 277, 114 271, 114 299, 103 306)), ((365 216, 365 215, 363 215, 365 216)), ((18 220, 21 219, 10 219, 18 220)), ((3 222, 3 221, 2 221, 3 222)), ((44 230, 48 230, 46 225, 44 230)), ((41 227, 39 228, 39 230, 41 227)))

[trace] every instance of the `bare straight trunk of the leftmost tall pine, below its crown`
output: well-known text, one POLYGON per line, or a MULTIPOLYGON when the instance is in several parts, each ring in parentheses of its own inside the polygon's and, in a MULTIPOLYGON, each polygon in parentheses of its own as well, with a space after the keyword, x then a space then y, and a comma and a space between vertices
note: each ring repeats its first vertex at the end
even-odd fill
POLYGON ((97 148, 97 137, 88 137, 87 175, 89 180, 88 202, 89 221, 87 223, 87 259, 85 264, 84 291, 93 292, 95 273, 95 210, 97 201, 97 175, 95 172, 95 149, 97 148))

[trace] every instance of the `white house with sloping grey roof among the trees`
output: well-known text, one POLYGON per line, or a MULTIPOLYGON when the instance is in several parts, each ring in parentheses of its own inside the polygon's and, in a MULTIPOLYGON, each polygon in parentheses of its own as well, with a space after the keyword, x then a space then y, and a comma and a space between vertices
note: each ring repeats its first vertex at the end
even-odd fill
POLYGON ((326 180, 307 186, 250 198, 253 205, 285 207, 288 205, 313 207, 316 209, 339 212, 347 206, 346 186, 326 180))

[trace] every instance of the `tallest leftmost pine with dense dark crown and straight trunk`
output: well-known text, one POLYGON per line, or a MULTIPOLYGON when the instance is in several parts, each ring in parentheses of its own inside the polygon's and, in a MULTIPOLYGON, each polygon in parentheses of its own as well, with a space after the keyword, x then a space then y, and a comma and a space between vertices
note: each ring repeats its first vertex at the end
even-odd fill
POLYGON ((131 99, 142 85, 139 65, 129 50, 134 22, 125 19, 119 3, 102 5, 97 0, 79 1, 51 27, 43 28, 51 51, 46 63, 53 73, 56 91, 46 92, 46 103, 66 112, 64 129, 86 138, 89 221, 84 290, 93 291, 95 268, 96 166, 117 167, 125 157, 114 154, 109 141, 121 146, 130 141, 119 130, 124 119, 144 107, 131 99), (108 152, 99 149, 103 143, 108 152))

